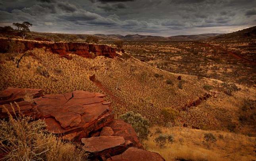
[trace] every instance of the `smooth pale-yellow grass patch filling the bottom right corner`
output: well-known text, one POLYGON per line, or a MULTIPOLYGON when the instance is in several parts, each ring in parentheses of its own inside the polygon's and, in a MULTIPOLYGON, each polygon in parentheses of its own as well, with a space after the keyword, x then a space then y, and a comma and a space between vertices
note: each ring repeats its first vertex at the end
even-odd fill
MULTIPOLYGON (((152 128, 152 132, 159 127, 152 128)), ((160 127, 164 134, 174 136, 174 142, 164 148, 156 146, 151 136, 144 140, 144 147, 152 152, 162 155, 166 161, 175 161, 175 159, 185 159, 189 161, 251 161, 256 159, 253 150, 255 150, 255 138, 245 135, 227 133, 223 131, 204 131, 189 129, 185 127, 166 128, 160 127), (217 141, 208 144, 204 140, 205 133, 213 133, 217 141), (220 139, 223 136, 223 139, 220 139)))

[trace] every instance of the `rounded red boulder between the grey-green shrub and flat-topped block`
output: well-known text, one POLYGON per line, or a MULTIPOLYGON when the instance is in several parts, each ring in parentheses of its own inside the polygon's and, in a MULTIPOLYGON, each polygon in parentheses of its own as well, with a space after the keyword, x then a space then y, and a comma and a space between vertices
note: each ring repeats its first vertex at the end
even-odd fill
POLYGON ((137 137, 137 133, 131 124, 128 124, 123 120, 114 120, 108 126, 114 131, 113 136, 119 136, 123 137, 125 140, 130 140, 133 143, 133 146, 143 149, 143 146, 137 137))

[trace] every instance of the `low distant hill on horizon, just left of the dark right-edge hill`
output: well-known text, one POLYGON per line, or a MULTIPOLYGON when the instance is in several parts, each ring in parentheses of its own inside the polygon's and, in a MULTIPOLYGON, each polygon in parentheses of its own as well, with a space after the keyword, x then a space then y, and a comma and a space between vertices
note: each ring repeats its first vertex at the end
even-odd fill
POLYGON ((171 36, 168 38, 171 40, 191 41, 191 40, 208 39, 209 37, 214 37, 219 35, 222 35, 222 34, 178 35, 178 36, 171 36))

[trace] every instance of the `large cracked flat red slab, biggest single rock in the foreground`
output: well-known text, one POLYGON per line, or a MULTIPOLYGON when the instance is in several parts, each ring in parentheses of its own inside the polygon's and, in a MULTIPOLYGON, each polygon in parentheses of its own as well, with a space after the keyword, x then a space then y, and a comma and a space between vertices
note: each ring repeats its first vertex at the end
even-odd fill
POLYGON ((86 91, 44 95, 34 99, 37 117, 45 120, 50 133, 80 140, 114 120, 110 102, 104 101, 104 96, 86 91))

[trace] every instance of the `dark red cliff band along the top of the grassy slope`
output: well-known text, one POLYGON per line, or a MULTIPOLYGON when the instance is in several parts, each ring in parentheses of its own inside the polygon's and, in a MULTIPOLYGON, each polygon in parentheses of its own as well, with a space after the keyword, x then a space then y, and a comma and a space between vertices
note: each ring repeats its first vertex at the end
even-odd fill
MULTIPOLYGON (((50 43, 39 41, 20 41, 12 40, 16 43, 20 42, 25 45, 24 51, 33 50, 34 48, 42 48, 60 54, 62 57, 68 58, 67 54, 77 54, 85 58, 95 58, 96 56, 106 56, 114 58, 116 56, 115 48, 107 45, 87 44, 87 43, 50 43)), ((0 52, 8 52, 10 41, 8 39, 0 39, 0 52)))

